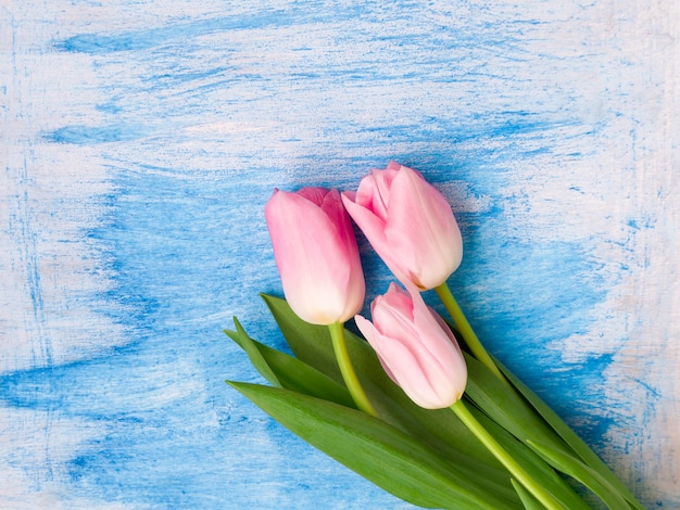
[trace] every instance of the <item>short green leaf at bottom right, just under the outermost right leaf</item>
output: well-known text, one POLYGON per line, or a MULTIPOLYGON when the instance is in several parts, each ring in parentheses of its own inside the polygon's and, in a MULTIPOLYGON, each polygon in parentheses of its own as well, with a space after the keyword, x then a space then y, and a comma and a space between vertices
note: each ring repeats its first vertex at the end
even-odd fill
POLYGON ((626 499, 595 470, 550 446, 533 441, 529 441, 529 445, 538 451, 547 463, 590 488, 610 510, 630 508, 626 499))

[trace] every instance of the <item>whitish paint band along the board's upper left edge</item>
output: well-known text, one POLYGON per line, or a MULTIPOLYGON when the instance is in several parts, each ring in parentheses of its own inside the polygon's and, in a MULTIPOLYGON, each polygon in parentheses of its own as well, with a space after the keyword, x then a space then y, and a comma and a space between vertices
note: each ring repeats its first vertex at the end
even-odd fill
MULTIPOLYGON (((111 289, 103 251, 87 237, 102 227, 112 192, 95 151, 55 151, 42 133, 87 117, 98 102, 83 58, 51 49, 55 23, 27 31, 39 8, 2 12, 3 86, 0 164, 0 373, 54 366, 121 343, 106 318, 111 289)), ((47 13, 46 13, 47 15, 47 13)), ((36 27, 40 24, 36 23, 36 27)), ((61 27, 65 29, 66 27, 61 27)))

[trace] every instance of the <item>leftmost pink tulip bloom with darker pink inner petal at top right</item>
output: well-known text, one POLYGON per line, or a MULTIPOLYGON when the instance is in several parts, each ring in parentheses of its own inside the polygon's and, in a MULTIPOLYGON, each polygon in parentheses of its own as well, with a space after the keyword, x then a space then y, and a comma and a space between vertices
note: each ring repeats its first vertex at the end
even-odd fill
POLYGON ((265 217, 293 311, 314 324, 344 322, 356 314, 364 302, 364 273, 340 193, 274 190, 265 217))

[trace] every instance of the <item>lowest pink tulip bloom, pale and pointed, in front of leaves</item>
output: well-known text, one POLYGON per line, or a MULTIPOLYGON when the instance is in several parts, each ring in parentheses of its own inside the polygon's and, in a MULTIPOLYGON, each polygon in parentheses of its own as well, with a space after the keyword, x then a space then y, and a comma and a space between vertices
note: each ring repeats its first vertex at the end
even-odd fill
POLYGON ((394 283, 370 306, 373 323, 355 316, 356 326, 378 354, 388 375, 418 406, 452 406, 465 391, 467 367, 446 323, 423 301, 394 283))

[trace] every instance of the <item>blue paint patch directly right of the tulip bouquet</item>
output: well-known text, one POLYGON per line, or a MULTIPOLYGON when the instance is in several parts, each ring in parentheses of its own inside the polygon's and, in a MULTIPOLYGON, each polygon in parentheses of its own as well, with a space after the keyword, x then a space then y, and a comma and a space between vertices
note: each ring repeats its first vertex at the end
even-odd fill
POLYGON ((588 332, 589 313, 606 297, 604 288, 593 280, 600 264, 579 243, 499 241, 502 224, 493 220, 494 214, 500 213, 476 222, 475 233, 465 237, 466 260, 452 278, 455 293, 489 348, 582 437, 602 446, 614 423, 612 418, 599 416, 596 406, 604 395, 595 392, 603 391, 601 383, 612 356, 569 365, 559 352, 545 349, 553 341, 588 332), (483 295, 475 291, 478 288, 486 289, 483 295), (543 370, 537 369, 537 360, 543 370), (553 373, 551 367, 559 370, 553 373), (588 421, 581 419, 588 415, 588 421))

